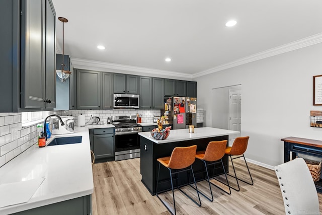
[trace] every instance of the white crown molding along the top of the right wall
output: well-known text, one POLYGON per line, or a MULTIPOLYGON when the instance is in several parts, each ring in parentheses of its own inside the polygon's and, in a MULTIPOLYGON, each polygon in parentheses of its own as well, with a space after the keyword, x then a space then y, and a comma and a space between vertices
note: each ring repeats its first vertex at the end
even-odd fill
POLYGON ((267 57, 282 54, 282 53, 285 53, 285 52, 289 52, 289 51, 293 51, 293 50, 296 50, 296 49, 304 48, 304 47, 314 45, 314 44, 317 44, 317 43, 321 43, 321 42, 322 42, 322 33, 318 33, 318 34, 315 34, 315 35, 312 35, 312 36, 309 36, 309 37, 305 37, 305 38, 300 39, 300 40, 296 40, 296 41, 291 42, 291 43, 287 43, 287 44, 284 44, 284 45, 281 45, 281 46, 277 46, 275 48, 268 49, 266 51, 262 51, 262 52, 259 52, 259 53, 256 53, 256 54, 253 54, 253 55, 250 55, 250 56, 247 56, 247 57, 243 57, 243 58, 240 58, 240 59, 237 59, 237 60, 222 64, 222 65, 210 68, 210 69, 200 71, 199 73, 193 74, 192 78, 194 79, 194 78, 198 78, 198 77, 201 77, 201 76, 206 76, 206 75, 216 73, 217 71, 221 71, 221 70, 224 70, 224 69, 227 69, 227 68, 232 68, 232 67, 235 67, 235 66, 238 66, 238 65, 246 64, 246 63, 253 62, 253 61, 256 61, 256 60, 260 60, 260 59, 264 59, 264 58, 267 58, 267 57))

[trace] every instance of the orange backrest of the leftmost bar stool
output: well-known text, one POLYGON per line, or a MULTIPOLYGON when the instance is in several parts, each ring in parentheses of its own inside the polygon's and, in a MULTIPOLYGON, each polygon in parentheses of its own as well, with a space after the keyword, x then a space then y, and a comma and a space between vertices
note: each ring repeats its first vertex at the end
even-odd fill
POLYGON ((168 167, 170 169, 184 169, 195 162, 197 146, 176 147, 170 157, 168 167))

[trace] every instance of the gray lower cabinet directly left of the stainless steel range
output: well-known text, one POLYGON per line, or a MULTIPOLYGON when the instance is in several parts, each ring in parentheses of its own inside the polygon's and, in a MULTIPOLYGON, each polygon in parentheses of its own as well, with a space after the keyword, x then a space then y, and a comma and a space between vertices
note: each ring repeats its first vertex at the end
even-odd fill
POLYGON ((114 128, 90 129, 90 140, 95 159, 114 158, 114 128))

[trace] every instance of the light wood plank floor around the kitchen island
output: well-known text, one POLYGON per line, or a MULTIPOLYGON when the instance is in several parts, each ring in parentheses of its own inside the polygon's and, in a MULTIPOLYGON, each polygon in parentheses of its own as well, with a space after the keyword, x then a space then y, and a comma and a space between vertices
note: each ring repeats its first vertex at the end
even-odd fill
MULTIPOLYGON (((246 177, 247 169, 241 166, 243 164, 241 162, 244 161, 236 161, 237 174, 246 177)), ((275 172, 250 163, 249 167, 254 180, 253 186, 240 182, 241 190, 239 192, 232 190, 231 195, 213 187, 214 201, 210 202, 200 195, 201 207, 176 190, 177 214, 285 214, 275 172)), ((171 214, 142 184, 139 158, 94 164, 93 176, 94 215, 171 214)), ((234 185, 234 179, 232 177, 228 179, 229 183, 234 185)), ((207 192, 209 189, 206 182, 198 182, 197 185, 201 191, 207 192)), ((191 187, 183 189, 189 195, 197 196, 191 187)), ((172 202, 171 191, 160 196, 172 202)), ((322 211, 322 194, 318 194, 318 197, 322 211)))

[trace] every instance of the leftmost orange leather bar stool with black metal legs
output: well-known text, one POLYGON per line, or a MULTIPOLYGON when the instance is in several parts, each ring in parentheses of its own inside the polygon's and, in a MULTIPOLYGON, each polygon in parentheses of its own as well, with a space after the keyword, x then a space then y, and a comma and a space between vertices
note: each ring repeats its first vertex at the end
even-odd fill
MULTIPOLYGON (((173 202, 174 202, 174 208, 175 208, 175 214, 176 214, 177 213, 176 212, 176 201, 175 201, 175 193, 174 193, 174 189, 173 189, 172 175, 191 170, 192 175, 193 175, 193 180, 194 180, 196 188, 197 188, 195 175, 194 175, 193 169, 192 169, 192 164, 195 162, 196 151, 197 151, 197 146, 196 145, 191 146, 191 147, 176 147, 173 150, 173 152, 171 154, 171 157, 165 157, 165 158, 157 159, 157 161, 159 162, 159 169, 158 169, 158 173, 157 173, 155 194, 172 214, 173 214, 173 212, 168 207, 168 204, 165 203, 158 196, 158 193, 157 193, 157 185, 158 185, 158 182, 159 182, 160 165, 162 164, 163 166, 167 167, 169 169, 169 171, 170 171, 171 188, 172 188, 173 202), (175 170, 175 171, 173 171, 173 170, 175 170)), ((179 178, 179 175, 178 175, 178 178, 179 178)), ((178 180, 178 178, 177 178, 177 180, 178 180)), ((180 189, 178 184, 177 184, 177 188, 183 194, 185 194, 188 198, 190 198, 194 203, 196 203, 198 206, 201 206, 201 201, 200 201, 200 196, 199 196, 198 189, 197 189, 197 194, 198 194, 198 198, 199 198, 199 203, 197 201, 195 201, 194 199, 192 199, 182 189, 180 189)))

